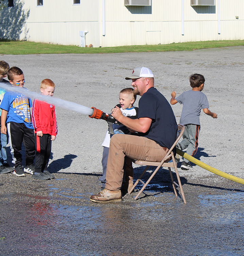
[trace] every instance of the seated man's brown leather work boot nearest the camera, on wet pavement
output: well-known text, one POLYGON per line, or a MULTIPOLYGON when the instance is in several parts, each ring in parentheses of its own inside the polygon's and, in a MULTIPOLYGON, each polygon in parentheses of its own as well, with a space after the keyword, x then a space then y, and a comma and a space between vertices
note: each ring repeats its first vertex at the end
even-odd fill
POLYGON ((92 195, 90 200, 97 203, 108 203, 121 201, 121 190, 108 190, 104 188, 97 195, 92 195))

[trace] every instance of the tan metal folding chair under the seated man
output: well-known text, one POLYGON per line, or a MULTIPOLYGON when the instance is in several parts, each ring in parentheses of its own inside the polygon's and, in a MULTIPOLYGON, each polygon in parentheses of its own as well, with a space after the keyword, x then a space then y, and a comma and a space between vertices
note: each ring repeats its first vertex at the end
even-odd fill
POLYGON ((174 192, 175 192, 175 196, 177 197, 178 194, 177 194, 177 191, 176 191, 176 186, 180 188, 180 193, 181 193, 181 196, 182 196, 182 199, 184 201, 184 203, 186 203, 185 201, 185 196, 184 196, 184 192, 183 192, 183 189, 182 189, 182 185, 181 185, 181 182, 180 182, 180 176, 179 176, 179 173, 178 173, 178 170, 177 170, 177 163, 175 161, 175 157, 174 157, 174 153, 173 153, 173 150, 174 150, 174 147, 176 146, 176 144, 178 143, 178 141, 180 140, 183 132, 185 130, 185 126, 182 125, 182 124, 179 124, 178 125, 178 131, 177 131, 177 139, 175 141, 175 143, 173 144, 173 146, 170 148, 170 150, 167 152, 167 154, 165 155, 164 159, 161 161, 161 162, 150 162, 150 161, 143 161, 143 160, 133 160, 133 162, 137 165, 146 165, 146 168, 145 170, 143 171, 143 173, 141 174, 141 176, 138 178, 138 180, 135 182, 135 184, 133 185, 133 187, 131 188, 131 190, 129 191, 129 194, 131 194, 131 192, 133 191, 133 189, 136 187, 136 185, 141 182, 143 184, 143 187, 141 188, 141 190, 139 191, 139 193, 136 195, 135 197, 135 200, 141 195, 142 191, 145 189, 145 187, 147 186, 147 184, 151 181, 151 179, 153 178, 153 176, 157 173, 157 171, 159 170, 160 167, 168 167, 168 170, 169 170, 169 174, 170 174, 170 178, 171 178, 171 181, 172 181, 172 185, 173 185, 173 188, 174 188, 174 192), (168 162, 170 159, 173 160, 173 162, 168 162), (151 176, 149 177, 149 179, 147 180, 146 183, 144 183, 141 179, 142 177, 144 176, 144 174, 146 173, 146 171, 148 170, 148 168, 150 166, 157 166, 156 170, 151 174, 151 176), (172 175, 172 171, 170 168, 175 168, 175 173, 176 173, 176 177, 177 177, 177 180, 178 180, 178 183, 176 183, 174 181, 174 178, 173 178, 173 175, 172 175))

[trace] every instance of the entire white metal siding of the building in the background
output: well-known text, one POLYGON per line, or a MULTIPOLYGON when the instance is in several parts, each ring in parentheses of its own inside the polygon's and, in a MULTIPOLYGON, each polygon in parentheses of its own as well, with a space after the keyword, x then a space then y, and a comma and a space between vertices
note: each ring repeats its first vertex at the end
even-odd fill
POLYGON ((36 0, 14 0, 14 8, 1 12, 0 37, 80 45, 79 31, 84 30, 89 31, 86 44, 94 47, 244 39, 244 0, 216 0, 216 6, 191 6, 190 0, 152 0, 151 6, 128 7, 124 0, 43 3, 36 6, 36 0))

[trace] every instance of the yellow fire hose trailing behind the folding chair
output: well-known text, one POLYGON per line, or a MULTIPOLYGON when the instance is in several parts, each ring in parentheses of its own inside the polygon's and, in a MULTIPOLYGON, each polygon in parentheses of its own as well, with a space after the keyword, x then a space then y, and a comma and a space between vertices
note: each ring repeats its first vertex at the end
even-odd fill
POLYGON ((216 168, 213 168, 212 166, 209 166, 207 165, 206 163, 204 162, 201 162, 199 160, 197 160, 196 158, 194 158, 193 156, 190 156, 188 154, 186 154, 185 152, 179 150, 179 148, 176 148, 176 153, 182 157, 184 157, 185 159, 195 163, 196 165, 200 166, 201 168, 204 168, 210 172, 213 172, 221 177, 224 177, 228 180, 231 180, 231 181, 235 181, 235 182, 238 182, 238 183, 241 183, 241 184, 244 184, 244 180, 241 179, 241 178, 238 178, 238 177, 235 177, 231 174, 228 174, 228 173, 225 173, 225 172, 222 172, 222 171, 219 171, 218 169, 216 168))

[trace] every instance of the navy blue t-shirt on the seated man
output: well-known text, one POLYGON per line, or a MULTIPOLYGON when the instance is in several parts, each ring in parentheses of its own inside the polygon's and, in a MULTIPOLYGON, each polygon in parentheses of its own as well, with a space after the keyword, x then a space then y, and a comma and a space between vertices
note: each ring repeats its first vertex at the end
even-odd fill
POLYGON ((140 136, 154 140, 162 147, 172 147, 178 125, 170 104, 154 87, 149 88, 139 100, 138 118, 142 117, 151 118, 152 124, 150 129, 146 133, 140 133, 140 136))

